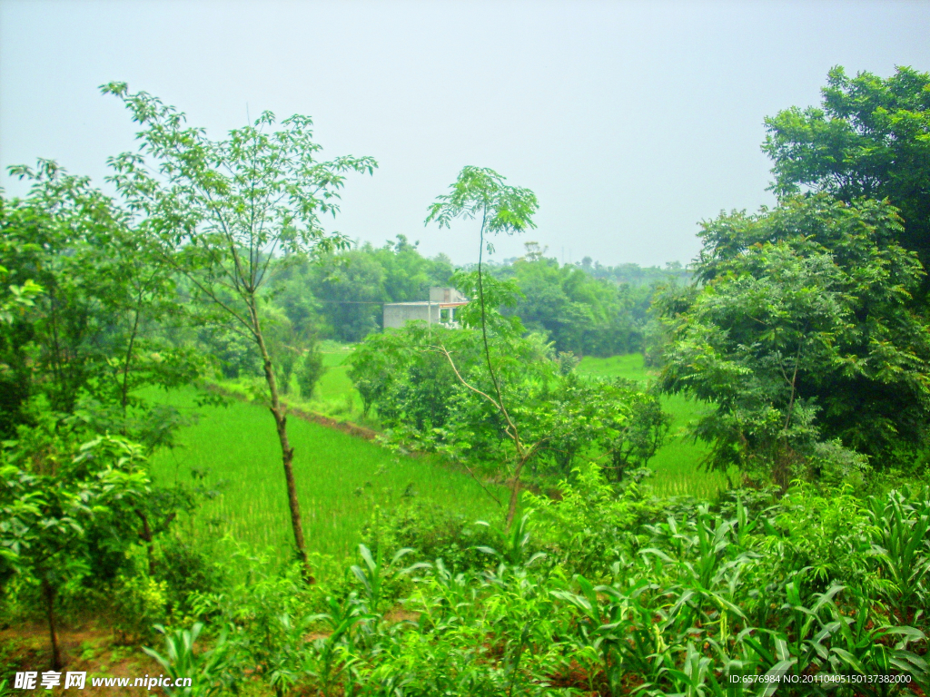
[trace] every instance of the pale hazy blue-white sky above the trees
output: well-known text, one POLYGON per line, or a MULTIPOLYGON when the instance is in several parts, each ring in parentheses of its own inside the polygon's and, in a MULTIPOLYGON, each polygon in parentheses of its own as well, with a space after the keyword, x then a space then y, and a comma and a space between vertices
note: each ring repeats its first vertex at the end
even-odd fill
POLYGON ((0 0, 0 185, 57 160, 106 188, 135 128, 117 80, 223 138, 247 116, 312 116, 325 157, 370 155, 327 222, 457 264, 475 225, 424 227, 462 166, 535 191, 549 256, 662 265, 700 220, 774 204, 764 117, 819 103, 832 66, 930 71, 930 2, 85 2, 0 0))

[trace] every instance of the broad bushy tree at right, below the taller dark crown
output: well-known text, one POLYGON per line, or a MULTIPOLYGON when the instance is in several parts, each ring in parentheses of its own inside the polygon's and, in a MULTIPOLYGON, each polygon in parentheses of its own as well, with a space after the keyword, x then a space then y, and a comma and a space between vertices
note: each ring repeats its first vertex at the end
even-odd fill
POLYGON ((889 204, 825 195, 704 223, 704 285, 672 318, 661 385, 716 405, 697 428, 712 464, 785 486, 824 440, 876 464, 923 446, 930 331, 900 230, 889 204))

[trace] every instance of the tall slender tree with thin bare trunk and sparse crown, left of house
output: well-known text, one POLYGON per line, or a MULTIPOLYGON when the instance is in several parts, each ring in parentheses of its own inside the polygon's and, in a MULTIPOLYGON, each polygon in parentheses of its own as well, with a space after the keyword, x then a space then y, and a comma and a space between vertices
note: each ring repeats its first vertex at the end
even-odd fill
POLYGON ((259 351, 285 471, 287 503, 297 554, 308 581, 294 449, 287 437, 271 350, 264 332, 262 292, 286 258, 346 246, 326 233, 320 217, 339 211, 339 190, 349 172, 371 174, 369 157, 316 159, 308 116, 275 124, 263 112, 252 125, 233 129, 225 140, 210 140, 202 128, 159 99, 125 83, 103 85, 121 99, 143 130, 139 152, 111 158, 111 181, 141 222, 161 258, 192 283, 199 299, 211 303, 248 335, 259 351), (153 160, 152 169, 149 160, 153 160))

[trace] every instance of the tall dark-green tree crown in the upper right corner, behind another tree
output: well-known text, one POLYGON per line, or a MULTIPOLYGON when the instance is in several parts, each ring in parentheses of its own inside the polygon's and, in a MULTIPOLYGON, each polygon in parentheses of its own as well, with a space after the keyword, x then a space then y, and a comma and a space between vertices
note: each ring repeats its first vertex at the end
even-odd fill
POLYGON ((836 67, 822 94, 822 108, 765 119, 772 189, 786 196, 808 188, 846 202, 886 198, 904 218, 898 242, 930 268, 930 73, 898 67, 887 79, 850 78, 836 67))

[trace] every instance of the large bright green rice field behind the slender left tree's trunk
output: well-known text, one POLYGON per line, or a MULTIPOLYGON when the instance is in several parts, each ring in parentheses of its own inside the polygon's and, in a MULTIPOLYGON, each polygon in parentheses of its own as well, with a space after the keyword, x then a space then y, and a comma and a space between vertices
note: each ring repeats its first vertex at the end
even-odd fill
MULTIPOLYGON (((190 411, 195 398, 189 389, 163 401, 190 411)), ((196 411, 201 414, 198 423, 182 429, 180 447, 156 454, 152 462, 153 477, 163 484, 190 481, 192 470, 207 471, 208 484, 221 484, 221 493, 206 502, 190 532, 209 526, 252 546, 289 546, 281 451, 271 414, 238 401, 196 411)), ((394 454, 375 442, 294 417, 287 430, 295 448, 304 534, 312 551, 346 557, 376 506, 399 506, 415 496, 441 501, 471 519, 502 517, 502 510, 468 474, 429 457, 394 454)))

